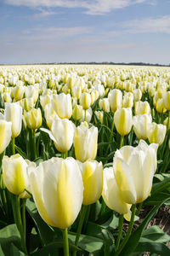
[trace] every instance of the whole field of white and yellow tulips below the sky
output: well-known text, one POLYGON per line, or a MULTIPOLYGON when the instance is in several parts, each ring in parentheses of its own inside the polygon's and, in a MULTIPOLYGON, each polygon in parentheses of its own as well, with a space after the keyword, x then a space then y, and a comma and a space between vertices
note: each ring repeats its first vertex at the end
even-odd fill
POLYGON ((169 256, 169 170, 169 67, 0 67, 0 256, 169 256))

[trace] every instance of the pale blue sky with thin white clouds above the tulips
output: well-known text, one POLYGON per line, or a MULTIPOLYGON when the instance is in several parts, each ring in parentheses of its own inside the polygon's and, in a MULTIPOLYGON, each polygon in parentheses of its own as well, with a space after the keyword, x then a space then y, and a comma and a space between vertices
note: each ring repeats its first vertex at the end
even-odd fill
POLYGON ((0 0, 0 64, 170 64, 170 0, 0 0))

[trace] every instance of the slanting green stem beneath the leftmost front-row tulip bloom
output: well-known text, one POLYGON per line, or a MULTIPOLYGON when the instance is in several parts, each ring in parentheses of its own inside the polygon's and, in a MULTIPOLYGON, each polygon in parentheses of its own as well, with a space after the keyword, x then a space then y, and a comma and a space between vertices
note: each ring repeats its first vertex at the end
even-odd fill
POLYGON ((26 239, 25 239, 25 235, 24 235, 22 219, 21 219, 21 214, 20 214, 20 197, 18 195, 12 195, 11 198, 13 201, 14 221, 15 221, 15 224, 20 232, 20 240, 21 240, 23 252, 26 253, 26 255, 27 255, 28 253, 27 253, 27 249, 26 249, 26 239))

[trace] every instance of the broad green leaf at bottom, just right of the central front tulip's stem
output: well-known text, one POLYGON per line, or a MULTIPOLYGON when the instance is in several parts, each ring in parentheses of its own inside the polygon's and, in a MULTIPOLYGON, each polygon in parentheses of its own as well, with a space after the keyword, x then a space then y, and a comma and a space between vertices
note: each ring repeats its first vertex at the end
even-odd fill
MULTIPOLYGON (((68 237, 72 242, 75 242, 76 233, 69 232, 68 237)), ((81 235, 78 243, 78 247, 88 251, 88 253, 94 253, 95 251, 101 250, 103 246, 103 240, 94 236, 81 235)))

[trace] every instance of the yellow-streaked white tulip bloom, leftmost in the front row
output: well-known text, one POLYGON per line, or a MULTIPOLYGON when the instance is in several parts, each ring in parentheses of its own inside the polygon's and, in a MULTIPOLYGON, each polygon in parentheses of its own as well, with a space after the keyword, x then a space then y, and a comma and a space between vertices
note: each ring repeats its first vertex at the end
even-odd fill
POLYGON ((29 185, 27 166, 26 160, 20 154, 3 156, 3 181, 14 195, 20 195, 29 185))

